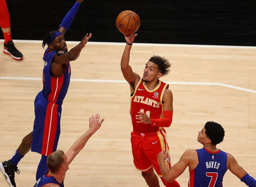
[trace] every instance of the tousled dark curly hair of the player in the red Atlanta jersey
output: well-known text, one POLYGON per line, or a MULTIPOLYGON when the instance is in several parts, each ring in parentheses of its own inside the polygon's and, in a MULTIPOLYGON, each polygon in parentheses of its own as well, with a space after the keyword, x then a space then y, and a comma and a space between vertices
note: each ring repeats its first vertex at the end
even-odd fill
POLYGON ((169 67, 171 67, 171 63, 164 57, 159 57, 157 55, 154 55, 151 57, 148 61, 154 62, 158 66, 158 70, 160 73, 163 74, 163 76, 167 75, 170 73, 169 67))

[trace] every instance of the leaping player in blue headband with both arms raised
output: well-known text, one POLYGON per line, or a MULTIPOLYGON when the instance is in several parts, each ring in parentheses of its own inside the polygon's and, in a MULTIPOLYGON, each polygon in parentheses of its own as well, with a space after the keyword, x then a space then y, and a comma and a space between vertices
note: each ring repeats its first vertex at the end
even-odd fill
POLYGON ((60 136, 61 105, 67 94, 71 75, 69 61, 79 57, 81 50, 92 37, 91 33, 86 34, 77 46, 68 51, 64 34, 70 27, 82 2, 83 0, 76 1, 62 20, 58 30, 44 35, 42 47, 45 45, 48 47, 43 56, 43 90, 35 99, 33 131, 23 138, 10 160, 0 163, 0 170, 10 187, 16 187, 14 173, 19 173, 17 165, 30 149, 42 155, 36 172, 36 180, 47 169, 47 157, 57 149, 60 136))

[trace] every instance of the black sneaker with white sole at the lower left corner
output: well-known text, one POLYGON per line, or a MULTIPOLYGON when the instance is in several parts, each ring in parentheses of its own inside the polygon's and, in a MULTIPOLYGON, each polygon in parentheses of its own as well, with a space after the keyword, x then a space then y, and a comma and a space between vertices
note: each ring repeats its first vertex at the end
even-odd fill
POLYGON ((0 163, 0 170, 9 186, 16 187, 14 181, 14 172, 20 174, 20 170, 17 168, 17 166, 14 166, 14 164, 8 160, 0 163))

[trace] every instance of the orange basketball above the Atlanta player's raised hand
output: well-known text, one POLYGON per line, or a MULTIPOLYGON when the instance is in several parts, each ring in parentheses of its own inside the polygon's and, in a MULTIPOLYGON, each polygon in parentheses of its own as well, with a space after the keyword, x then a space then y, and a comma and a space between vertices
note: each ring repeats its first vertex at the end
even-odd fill
POLYGON ((123 11, 116 18, 116 27, 121 33, 130 35, 140 27, 140 18, 133 11, 123 11))

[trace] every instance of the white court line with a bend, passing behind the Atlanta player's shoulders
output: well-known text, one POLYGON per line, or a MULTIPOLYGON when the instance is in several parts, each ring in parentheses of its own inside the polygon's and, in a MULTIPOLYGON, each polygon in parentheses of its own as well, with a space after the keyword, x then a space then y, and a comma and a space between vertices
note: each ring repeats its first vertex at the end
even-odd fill
MULTIPOLYGON (((0 79, 5 80, 33 80, 33 81, 42 81, 42 78, 36 77, 0 77, 0 79)), ((125 80, 107 80, 107 79, 70 79, 70 81, 75 82, 116 82, 116 83, 126 83, 125 80)), ((256 90, 250 90, 247 88, 242 88, 238 86, 233 86, 230 84, 223 84, 218 82, 165 82, 168 84, 176 84, 176 85, 204 85, 204 86, 222 86, 227 88, 232 88, 236 90, 246 91, 250 93, 256 93, 256 90)))

